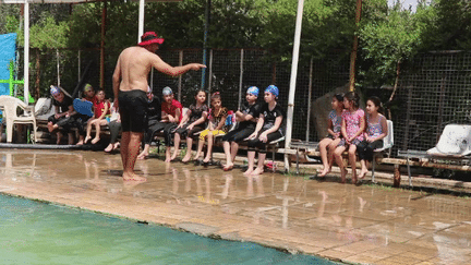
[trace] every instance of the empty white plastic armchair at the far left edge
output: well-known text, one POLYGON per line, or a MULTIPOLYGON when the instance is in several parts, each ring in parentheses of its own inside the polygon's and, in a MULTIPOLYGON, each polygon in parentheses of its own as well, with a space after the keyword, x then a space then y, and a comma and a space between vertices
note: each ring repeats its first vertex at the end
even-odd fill
POLYGON ((16 124, 33 124, 34 143, 36 143, 36 118, 34 109, 22 100, 11 96, 0 96, 0 108, 3 111, 3 119, 7 121, 7 142, 11 143, 13 140, 13 125, 16 124), (24 111, 23 116, 17 116, 17 108, 24 111))

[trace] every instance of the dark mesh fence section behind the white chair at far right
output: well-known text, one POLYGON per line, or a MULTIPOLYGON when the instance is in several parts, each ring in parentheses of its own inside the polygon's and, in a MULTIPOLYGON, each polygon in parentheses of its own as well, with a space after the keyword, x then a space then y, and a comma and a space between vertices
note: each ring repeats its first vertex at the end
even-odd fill
POLYGON ((404 63, 396 104, 396 150, 426 150, 446 124, 469 124, 471 53, 430 52, 404 63))

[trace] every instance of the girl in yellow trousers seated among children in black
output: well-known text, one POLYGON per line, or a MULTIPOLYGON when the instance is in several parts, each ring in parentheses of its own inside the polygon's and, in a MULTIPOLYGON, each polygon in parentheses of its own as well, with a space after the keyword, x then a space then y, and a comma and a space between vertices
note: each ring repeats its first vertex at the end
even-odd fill
POLYGON ((208 127, 206 130, 200 133, 200 142, 198 142, 198 149, 196 152, 194 160, 198 159, 200 156, 203 154, 203 146, 205 138, 207 137, 207 152, 206 157, 204 158, 203 162, 206 165, 209 162, 213 154, 213 144, 215 141, 215 137, 218 135, 225 135, 227 133, 228 127, 226 127, 226 118, 228 117, 228 109, 226 107, 222 107, 221 104, 221 97, 219 92, 215 92, 212 95, 212 107, 209 109, 208 115, 208 127))

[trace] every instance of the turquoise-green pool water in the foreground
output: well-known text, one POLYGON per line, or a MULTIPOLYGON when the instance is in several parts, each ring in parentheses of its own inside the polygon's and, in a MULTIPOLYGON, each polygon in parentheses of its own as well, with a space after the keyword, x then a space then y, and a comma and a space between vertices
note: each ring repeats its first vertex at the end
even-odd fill
POLYGON ((337 264, 0 194, 0 264, 337 264))

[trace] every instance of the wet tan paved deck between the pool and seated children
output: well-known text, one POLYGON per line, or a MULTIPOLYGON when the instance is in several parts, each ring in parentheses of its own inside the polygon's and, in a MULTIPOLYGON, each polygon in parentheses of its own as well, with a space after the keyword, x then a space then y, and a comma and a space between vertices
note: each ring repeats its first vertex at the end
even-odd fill
POLYGON ((361 264, 471 264, 471 198, 119 154, 0 150, 0 192, 361 264))

